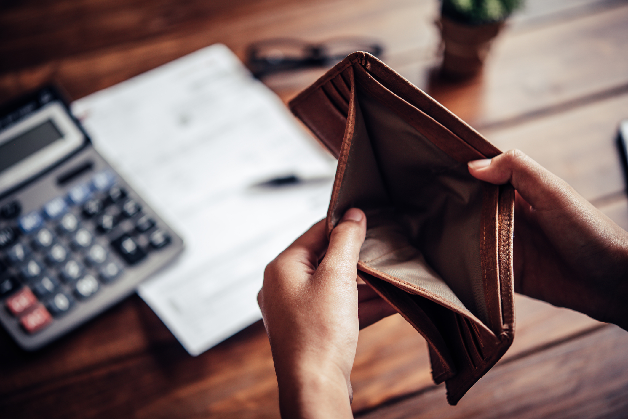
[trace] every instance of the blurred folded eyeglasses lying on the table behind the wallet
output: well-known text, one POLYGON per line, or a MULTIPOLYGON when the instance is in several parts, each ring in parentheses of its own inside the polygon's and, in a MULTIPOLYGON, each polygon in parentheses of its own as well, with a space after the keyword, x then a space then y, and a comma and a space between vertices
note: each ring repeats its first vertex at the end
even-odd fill
POLYGON ((265 75, 308 67, 333 66, 355 51, 374 56, 384 52, 379 43, 365 38, 334 38, 322 43, 281 38, 252 43, 247 48, 247 64, 253 75, 265 75))

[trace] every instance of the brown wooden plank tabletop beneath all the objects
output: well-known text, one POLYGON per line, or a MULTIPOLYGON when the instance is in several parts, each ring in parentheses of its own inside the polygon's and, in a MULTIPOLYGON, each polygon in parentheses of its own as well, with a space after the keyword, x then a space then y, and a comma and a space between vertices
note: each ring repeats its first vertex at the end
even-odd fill
MULTIPOLYGON (((480 130, 566 179, 620 226, 615 148, 628 117, 628 2, 529 0, 483 75, 434 77, 435 0, 4 0, 0 98, 55 80, 80 98, 215 42, 244 57, 274 37, 365 35, 383 60, 480 130)), ((323 70, 270 77, 284 100, 323 70)), ((398 315, 360 332, 352 371, 364 418, 625 418, 628 332, 517 295, 516 338, 458 406, 430 380, 425 341, 398 315)), ((38 353, 0 331, 3 418, 276 418, 261 322, 188 356, 137 296, 38 353)))

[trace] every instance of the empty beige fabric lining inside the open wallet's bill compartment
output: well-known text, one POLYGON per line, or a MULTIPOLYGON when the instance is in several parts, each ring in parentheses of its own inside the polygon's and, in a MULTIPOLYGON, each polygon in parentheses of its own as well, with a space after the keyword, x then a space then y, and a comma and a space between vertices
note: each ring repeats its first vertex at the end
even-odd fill
POLYGON ((361 92, 333 219, 350 206, 367 211, 361 262, 489 325, 479 248, 481 183, 466 164, 361 92))

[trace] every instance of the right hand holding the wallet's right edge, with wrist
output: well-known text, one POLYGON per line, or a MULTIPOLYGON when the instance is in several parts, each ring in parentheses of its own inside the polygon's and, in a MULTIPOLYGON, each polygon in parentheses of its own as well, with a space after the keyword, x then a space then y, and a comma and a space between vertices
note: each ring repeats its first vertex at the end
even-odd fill
POLYGON ((628 233, 519 150, 468 169, 516 189, 515 290, 628 330, 628 233))

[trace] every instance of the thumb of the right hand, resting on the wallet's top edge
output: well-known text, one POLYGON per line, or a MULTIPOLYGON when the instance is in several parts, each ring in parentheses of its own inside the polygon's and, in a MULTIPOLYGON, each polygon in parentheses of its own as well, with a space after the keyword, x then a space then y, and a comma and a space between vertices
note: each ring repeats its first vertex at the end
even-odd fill
POLYGON ((468 162, 472 176, 492 184, 510 182, 536 210, 551 210, 573 200, 568 183, 545 169, 520 150, 510 150, 492 159, 468 162))

